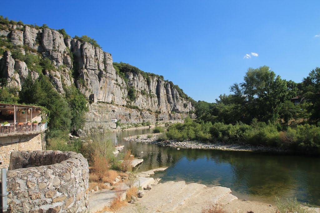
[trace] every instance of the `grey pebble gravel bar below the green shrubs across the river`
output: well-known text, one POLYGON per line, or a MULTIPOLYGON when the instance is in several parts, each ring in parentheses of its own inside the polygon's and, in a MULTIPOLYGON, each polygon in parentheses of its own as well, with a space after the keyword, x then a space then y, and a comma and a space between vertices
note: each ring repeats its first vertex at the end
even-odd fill
POLYGON ((219 149, 219 150, 230 150, 230 151, 260 151, 260 152, 287 152, 287 150, 282 150, 279 148, 267 147, 267 146, 252 146, 246 144, 226 144, 222 142, 214 143, 203 143, 201 141, 157 141, 159 135, 163 133, 150 133, 142 134, 137 137, 137 135, 124 138, 125 141, 134 141, 146 144, 157 144, 160 146, 173 147, 173 148, 191 148, 191 149, 219 149), (149 135, 149 136, 148 136, 149 135), (152 135, 152 137, 151 137, 152 135), (148 138, 149 137, 149 138, 148 138))

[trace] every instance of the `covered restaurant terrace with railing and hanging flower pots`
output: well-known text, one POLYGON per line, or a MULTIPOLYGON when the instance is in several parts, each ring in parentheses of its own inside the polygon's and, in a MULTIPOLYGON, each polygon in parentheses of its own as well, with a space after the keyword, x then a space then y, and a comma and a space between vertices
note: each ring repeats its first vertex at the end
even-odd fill
POLYGON ((0 103, 0 137, 46 130, 47 115, 40 107, 0 103))

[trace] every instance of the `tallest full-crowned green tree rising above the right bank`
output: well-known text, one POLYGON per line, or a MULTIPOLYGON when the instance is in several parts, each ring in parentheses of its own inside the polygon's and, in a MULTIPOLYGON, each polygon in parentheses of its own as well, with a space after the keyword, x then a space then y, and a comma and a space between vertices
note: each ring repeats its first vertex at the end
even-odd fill
POLYGON ((287 95, 286 80, 276 76, 268 66, 249 68, 244 82, 230 87, 238 103, 244 105, 250 118, 275 122, 287 95))

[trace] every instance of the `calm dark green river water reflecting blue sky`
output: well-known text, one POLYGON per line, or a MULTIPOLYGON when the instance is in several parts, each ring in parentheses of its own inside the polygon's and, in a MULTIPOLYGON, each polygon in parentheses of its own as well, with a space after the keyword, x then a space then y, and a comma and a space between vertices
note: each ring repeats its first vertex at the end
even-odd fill
POLYGON ((239 199, 274 203, 275 196, 296 197, 300 202, 320 206, 320 158, 243 151, 199 150, 162 147, 124 141, 129 134, 147 134, 152 129, 111 133, 115 144, 131 149, 143 158, 139 171, 168 166, 153 178, 162 181, 224 186, 239 199), (143 153, 141 153, 143 151, 143 153))

